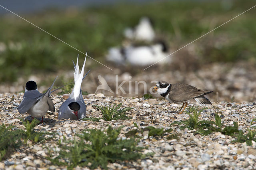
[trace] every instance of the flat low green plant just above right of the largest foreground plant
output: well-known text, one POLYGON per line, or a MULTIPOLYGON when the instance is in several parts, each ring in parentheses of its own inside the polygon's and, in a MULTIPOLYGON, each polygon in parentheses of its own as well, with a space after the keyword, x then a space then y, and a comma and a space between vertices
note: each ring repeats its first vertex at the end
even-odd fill
POLYGON ((170 128, 168 130, 164 130, 164 128, 155 128, 153 126, 148 126, 146 128, 139 128, 138 124, 136 124, 135 122, 133 124, 136 127, 136 129, 133 129, 133 130, 130 130, 129 132, 127 132, 125 134, 125 136, 127 138, 130 136, 138 137, 136 135, 137 133, 143 134, 143 132, 145 132, 145 131, 148 131, 148 136, 163 136, 164 133, 172 132, 172 128, 170 128))

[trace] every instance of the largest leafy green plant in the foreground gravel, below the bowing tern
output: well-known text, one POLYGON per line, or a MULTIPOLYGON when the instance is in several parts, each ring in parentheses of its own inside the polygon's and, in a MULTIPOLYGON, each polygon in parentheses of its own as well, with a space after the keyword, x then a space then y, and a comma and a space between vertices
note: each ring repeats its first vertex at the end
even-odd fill
POLYGON ((79 139, 66 140, 60 144, 60 152, 56 158, 50 154, 48 159, 53 164, 66 165, 68 169, 78 166, 88 166, 91 169, 108 169, 108 162, 118 162, 125 160, 137 160, 143 157, 137 147, 138 141, 134 138, 118 139, 120 130, 108 126, 105 131, 98 129, 83 130, 77 134, 79 139), (61 161, 65 160, 65 161, 61 161))

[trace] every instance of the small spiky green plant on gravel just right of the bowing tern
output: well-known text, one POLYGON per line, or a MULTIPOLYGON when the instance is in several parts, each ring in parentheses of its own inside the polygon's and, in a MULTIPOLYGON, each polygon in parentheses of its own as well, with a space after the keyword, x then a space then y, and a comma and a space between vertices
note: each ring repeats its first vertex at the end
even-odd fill
POLYGON ((112 107, 110 106, 96 106, 96 107, 101 110, 103 120, 105 121, 130 119, 130 117, 126 116, 125 112, 133 108, 128 107, 128 108, 120 109, 121 105, 122 103, 118 104, 117 106, 116 104, 114 104, 114 106, 112 107))

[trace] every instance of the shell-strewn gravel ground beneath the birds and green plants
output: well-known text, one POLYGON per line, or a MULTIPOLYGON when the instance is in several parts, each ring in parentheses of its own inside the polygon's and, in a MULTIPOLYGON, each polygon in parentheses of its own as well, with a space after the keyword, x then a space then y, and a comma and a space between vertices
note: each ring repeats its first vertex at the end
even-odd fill
MULTIPOLYGON (((22 125, 22 120, 31 119, 28 114, 20 114, 18 112, 18 104, 21 102, 23 94, 17 96, 16 94, 0 94, 0 123, 14 124, 17 128, 25 129, 22 125)), ((58 108, 65 100, 66 96, 57 96, 53 94, 53 102, 55 103, 56 112, 51 114, 48 112, 45 115, 44 123, 38 124, 35 127, 38 131, 58 132, 54 138, 47 140, 44 144, 38 144, 26 152, 19 154, 26 150, 20 148, 12 155, 19 154, 14 159, 0 164, 0 169, 6 170, 59 170, 66 169, 66 167, 57 167, 52 165, 47 156, 48 150, 46 148, 57 147, 57 141, 66 138, 72 138, 74 134, 87 128, 104 128, 108 125, 114 128, 124 125, 120 137, 129 130, 134 129, 133 122, 136 122, 141 128, 146 126, 154 126, 156 128, 169 129, 170 124, 175 120, 185 120, 189 116, 184 112, 177 114, 177 110, 181 105, 170 104, 162 99, 144 100, 143 98, 127 98, 127 97, 112 97, 104 96, 103 94, 89 94, 84 96, 84 101, 87 105, 88 117, 101 117, 101 113, 93 107, 93 105, 106 106, 108 104, 123 103, 125 107, 134 107, 134 109, 127 112, 131 120, 118 120, 106 122, 92 121, 70 121, 58 120, 58 108), (70 128, 72 127, 72 128, 70 128)), ((197 103, 191 102, 189 106, 197 103)), ((215 120, 212 113, 217 113, 222 117, 222 124, 232 125, 233 122, 238 122, 239 129, 246 130, 250 128, 250 122, 255 117, 256 105, 255 103, 226 103, 214 102, 204 112, 201 113, 200 119, 215 120)), ((225 170, 251 170, 256 169, 256 142, 252 141, 252 146, 246 146, 246 143, 232 143, 234 138, 225 136, 220 132, 212 133, 210 135, 201 136, 194 135, 193 131, 185 128, 180 130, 180 125, 172 125, 173 131, 171 134, 177 134, 178 139, 168 140, 167 136, 150 136, 144 134, 144 138, 140 140, 139 146, 147 146, 144 153, 155 152, 144 160, 111 163, 108 165, 110 169, 130 169, 130 170, 189 170, 189 169, 225 169, 225 170), (246 158, 246 160, 244 159, 246 158)), ((32 144, 30 144, 32 146, 32 144)), ((28 148, 28 147, 27 147, 28 148)), ((76 167, 75 169, 87 169, 76 167)), ((100 169, 100 168, 99 168, 100 169)))

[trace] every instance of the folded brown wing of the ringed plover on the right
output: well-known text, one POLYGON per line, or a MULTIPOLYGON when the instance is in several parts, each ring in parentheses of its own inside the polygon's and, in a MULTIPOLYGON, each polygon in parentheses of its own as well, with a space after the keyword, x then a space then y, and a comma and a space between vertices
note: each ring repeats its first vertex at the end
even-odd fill
POLYGON ((170 95, 168 97, 173 102, 181 103, 194 98, 198 98, 200 96, 204 96, 211 92, 212 91, 198 89, 188 84, 172 84, 170 95))

